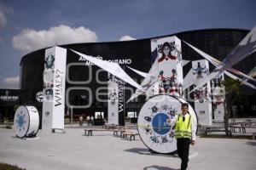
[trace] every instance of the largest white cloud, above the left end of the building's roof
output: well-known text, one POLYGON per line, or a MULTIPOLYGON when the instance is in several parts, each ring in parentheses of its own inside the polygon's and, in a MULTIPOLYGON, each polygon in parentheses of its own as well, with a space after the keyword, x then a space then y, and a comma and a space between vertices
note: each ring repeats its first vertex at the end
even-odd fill
POLYGON ((49 30, 35 31, 25 29, 13 38, 13 46, 28 53, 39 48, 76 42, 96 42, 96 32, 84 26, 72 28, 70 26, 55 26, 49 30))

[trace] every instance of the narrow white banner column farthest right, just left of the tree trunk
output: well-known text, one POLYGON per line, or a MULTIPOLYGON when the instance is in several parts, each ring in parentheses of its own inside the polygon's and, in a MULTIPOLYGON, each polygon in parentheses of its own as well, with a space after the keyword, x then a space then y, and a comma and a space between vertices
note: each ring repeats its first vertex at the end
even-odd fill
POLYGON ((224 121, 224 86, 221 81, 224 80, 224 74, 212 79, 212 105, 213 105, 213 121, 224 121))

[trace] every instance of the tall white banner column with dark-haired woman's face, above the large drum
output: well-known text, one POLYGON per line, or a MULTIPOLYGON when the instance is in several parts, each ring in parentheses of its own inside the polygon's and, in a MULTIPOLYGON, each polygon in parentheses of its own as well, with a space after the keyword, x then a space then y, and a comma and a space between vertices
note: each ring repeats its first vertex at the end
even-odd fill
MULTIPOLYGON (((155 42, 151 46, 155 46, 155 42)), ((182 96, 183 66, 180 39, 175 36, 157 39, 157 56, 160 94, 182 96)))

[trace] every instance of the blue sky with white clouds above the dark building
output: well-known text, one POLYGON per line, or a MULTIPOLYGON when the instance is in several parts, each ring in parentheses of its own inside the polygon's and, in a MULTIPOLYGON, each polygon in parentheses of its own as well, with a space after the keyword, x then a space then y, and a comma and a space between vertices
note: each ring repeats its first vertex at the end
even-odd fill
POLYGON ((0 0, 0 88, 19 88, 20 59, 74 42, 256 26, 255 0, 0 0))

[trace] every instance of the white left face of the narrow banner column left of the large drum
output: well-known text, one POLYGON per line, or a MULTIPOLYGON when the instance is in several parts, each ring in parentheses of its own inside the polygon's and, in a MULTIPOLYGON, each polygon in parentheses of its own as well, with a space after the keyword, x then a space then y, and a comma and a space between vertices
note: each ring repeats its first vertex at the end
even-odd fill
POLYGON ((108 123, 119 124, 119 84, 116 77, 108 73, 108 123))

